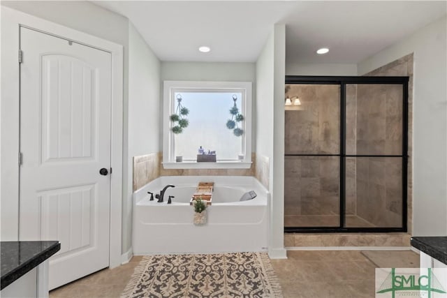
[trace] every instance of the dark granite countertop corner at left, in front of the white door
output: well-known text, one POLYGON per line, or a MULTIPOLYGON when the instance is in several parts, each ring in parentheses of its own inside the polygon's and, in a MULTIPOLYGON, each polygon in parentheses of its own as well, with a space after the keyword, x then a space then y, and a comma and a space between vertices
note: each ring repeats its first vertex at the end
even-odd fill
POLYGON ((1 241, 1 290, 61 249, 59 241, 1 241))

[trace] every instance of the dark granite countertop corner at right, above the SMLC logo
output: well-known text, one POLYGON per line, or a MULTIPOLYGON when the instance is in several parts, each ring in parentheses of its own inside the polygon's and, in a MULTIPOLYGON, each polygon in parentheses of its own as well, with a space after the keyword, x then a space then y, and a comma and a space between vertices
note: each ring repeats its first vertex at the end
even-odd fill
POLYGON ((411 237, 411 246, 447 265, 447 237, 411 237))

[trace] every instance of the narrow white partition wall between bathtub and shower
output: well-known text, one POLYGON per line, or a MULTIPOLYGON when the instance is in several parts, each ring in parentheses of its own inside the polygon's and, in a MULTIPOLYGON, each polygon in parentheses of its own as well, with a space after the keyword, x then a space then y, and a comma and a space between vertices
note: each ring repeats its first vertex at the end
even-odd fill
POLYGON ((270 161, 270 258, 284 249, 284 75, 286 29, 274 26, 256 61, 256 155, 270 161))

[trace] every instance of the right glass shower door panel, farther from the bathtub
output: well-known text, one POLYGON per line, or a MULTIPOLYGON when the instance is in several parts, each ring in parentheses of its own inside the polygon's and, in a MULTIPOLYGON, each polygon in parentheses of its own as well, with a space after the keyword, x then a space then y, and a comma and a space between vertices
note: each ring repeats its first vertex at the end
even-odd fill
POLYGON ((402 84, 346 84, 346 228, 402 227, 403 96, 402 84))

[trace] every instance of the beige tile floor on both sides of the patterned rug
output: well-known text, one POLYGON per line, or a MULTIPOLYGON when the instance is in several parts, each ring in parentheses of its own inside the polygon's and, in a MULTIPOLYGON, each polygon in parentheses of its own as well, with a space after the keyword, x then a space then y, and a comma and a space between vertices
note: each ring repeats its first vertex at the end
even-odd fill
MULTIPOLYGON (((271 260, 284 298, 374 298, 374 268, 419 267, 419 255, 412 251, 288 251, 287 256, 271 260)), ((50 298, 119 297, 140 260, 133 257, 52 290, 50 298)))

